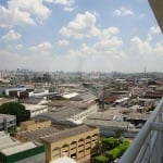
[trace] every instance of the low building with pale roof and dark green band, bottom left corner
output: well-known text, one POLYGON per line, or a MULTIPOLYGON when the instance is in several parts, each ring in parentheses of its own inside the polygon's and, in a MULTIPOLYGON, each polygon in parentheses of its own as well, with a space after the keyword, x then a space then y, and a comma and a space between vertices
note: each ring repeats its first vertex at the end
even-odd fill
POLYGON ((36 142, 22 143, 0 133, 1 163, 45 163, 45 146, 36 142))

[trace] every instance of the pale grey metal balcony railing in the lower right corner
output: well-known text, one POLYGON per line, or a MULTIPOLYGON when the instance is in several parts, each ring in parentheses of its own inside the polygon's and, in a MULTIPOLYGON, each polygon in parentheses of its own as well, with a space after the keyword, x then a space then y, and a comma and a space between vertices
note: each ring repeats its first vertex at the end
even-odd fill
POLYGON ((163 162, 163 99, 118 163, 163 162))

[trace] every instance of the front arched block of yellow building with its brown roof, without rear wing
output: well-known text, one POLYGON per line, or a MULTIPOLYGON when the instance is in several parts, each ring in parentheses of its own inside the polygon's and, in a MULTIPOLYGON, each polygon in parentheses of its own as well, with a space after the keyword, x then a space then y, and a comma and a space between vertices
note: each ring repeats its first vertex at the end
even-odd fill
POLYGON ((79 126, 41 138, 46 147, 46 162, 67 155, 79 163, 90 162, 90 153, 99 140, 99 128, 79 126))

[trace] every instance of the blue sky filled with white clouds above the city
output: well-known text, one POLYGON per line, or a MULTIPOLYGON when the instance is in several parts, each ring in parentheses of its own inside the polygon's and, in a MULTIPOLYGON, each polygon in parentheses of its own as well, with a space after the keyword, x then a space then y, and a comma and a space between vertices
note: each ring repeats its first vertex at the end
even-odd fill
POLYGON ((163 72, 148 0, 0 0, 0 70, 163 72))

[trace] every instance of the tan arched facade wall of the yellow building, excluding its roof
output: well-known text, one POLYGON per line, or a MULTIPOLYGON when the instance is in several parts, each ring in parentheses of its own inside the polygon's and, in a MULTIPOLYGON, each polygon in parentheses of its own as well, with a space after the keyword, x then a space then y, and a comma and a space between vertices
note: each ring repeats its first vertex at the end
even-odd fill
POLYGON ((42 140, 46 147, 46 162, 48 163, 49 161, 63 155, 74 158, 78 162, 82 162, 82 160, 85 162, 86 156, 90 160, 91 150, 96 147, 98 140, 99 128, 93 128, 92 130, 82 133, 66 139, 53 141, 49 145, 45 143, 42 140))

